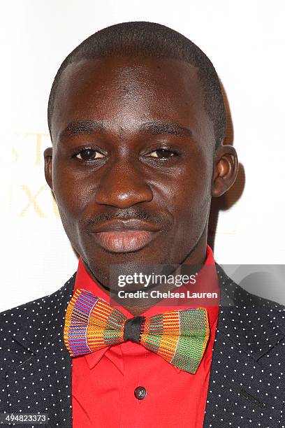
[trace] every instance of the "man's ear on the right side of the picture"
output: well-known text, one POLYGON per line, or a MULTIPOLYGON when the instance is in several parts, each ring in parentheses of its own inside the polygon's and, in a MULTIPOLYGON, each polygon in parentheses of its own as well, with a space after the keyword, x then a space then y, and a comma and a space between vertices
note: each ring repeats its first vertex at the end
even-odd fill
POLYGON ((214 155, 212 197, 224 194, 238 176, 238 155, 232 145, 221 145, 214 155))

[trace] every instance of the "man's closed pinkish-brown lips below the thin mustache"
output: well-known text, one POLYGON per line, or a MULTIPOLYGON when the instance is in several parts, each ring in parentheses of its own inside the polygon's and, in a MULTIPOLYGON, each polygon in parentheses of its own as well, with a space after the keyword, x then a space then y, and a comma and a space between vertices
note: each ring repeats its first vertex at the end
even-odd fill
POLYGON ((156 224, 141 220, 110 220, 97 224, 92 233, 109 252, 131 252, 145 247, 159 234, 156 224))

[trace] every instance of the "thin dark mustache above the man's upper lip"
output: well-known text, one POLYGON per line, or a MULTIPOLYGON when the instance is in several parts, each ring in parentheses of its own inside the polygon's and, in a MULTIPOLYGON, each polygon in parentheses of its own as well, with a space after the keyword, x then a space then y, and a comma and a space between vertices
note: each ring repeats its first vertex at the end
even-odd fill
POLYGON ((167 220, 166 215, 161 213, 157 215, 156 213, 147 213, 141 208, 125 208, 124 210, 116 210, 116 211, 106 211, 104 213, 100 213, 90 218, 85 222, 85 226, 94 226, 96 224, 100 224, 101 222, 105 222, 108 220, 144 220, 146 222, 151 222, 153 224, 166 224, 167 220))

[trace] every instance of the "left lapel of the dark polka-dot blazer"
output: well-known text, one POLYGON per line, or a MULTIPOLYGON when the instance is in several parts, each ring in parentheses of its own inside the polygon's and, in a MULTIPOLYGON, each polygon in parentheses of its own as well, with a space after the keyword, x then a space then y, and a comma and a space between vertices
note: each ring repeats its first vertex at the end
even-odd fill
POLYGON ((10 347, 14 364, 6 371, 7 411, 48 413, 45 426, 51 428, 72 427, 72 359, 63 329, 74 280, 75 275, 50 296, 20 306, 23 323, 10 347))

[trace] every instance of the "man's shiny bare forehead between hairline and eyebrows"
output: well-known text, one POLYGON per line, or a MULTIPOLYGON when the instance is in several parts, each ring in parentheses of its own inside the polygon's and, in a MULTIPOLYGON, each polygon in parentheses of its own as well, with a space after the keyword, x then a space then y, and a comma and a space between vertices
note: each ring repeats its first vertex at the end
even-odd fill
POLYGON ((198 69, 177 59, 103 57, 69 64, 61 74, 52 139, 76 120, 133 129, 145 120, 211 127, 198 69))

